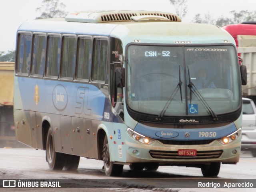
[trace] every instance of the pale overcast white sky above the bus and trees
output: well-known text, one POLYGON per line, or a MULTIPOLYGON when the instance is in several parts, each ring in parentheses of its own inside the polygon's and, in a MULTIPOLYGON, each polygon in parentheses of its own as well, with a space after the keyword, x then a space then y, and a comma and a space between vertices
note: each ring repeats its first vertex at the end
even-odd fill
MULTIPOLYGON (((36 8, 42 0, 0 0, 0 51, 15 50, 16 31, 26 20, 40 16, 36 8)), ((170 0, 59 0, 66 12, 82 10, 151 10, 175 13, 170 0)), ((188 0, 188 12, 182 22, 191 22, 196 14, 231 17, 230 11, 255 11, 256 0, 188 0)))

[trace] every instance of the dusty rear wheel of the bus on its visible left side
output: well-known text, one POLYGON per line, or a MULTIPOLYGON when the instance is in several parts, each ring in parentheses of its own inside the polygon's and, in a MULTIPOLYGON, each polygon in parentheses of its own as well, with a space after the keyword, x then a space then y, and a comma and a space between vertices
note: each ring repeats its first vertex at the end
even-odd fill
POLYGON ((46 139, 46 161, 50 170, 62 170, 64 167, 63 154, 55 152, 52 129, 49 128, 46 139))

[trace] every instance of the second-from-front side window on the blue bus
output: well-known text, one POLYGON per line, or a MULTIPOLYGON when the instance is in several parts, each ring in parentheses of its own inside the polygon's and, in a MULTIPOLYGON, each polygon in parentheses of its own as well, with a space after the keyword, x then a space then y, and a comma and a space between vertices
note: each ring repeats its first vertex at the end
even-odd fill
POLYGON ((92 60, 92 40, 87 38, 78 38, 78 56, 76 67, 76 78, 90 78, 90 62, 92 60))

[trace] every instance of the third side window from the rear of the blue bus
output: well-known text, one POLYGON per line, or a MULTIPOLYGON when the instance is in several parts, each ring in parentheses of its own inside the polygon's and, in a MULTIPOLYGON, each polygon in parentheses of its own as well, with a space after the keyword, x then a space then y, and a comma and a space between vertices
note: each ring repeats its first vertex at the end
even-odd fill
POLYGON ((60 36, 48 36, 46 76, 57 77, 60 66, 60 36))

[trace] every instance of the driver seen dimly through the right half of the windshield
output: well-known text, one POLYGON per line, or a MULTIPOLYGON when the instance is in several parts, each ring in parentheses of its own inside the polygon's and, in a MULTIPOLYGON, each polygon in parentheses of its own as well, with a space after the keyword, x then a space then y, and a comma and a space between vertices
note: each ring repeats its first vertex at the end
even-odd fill
POLYGON ((193 83, 196 89, 216 88, 212 80, 207 79, 207 71, 205 69, 199 69, 198 78, 193 83))

